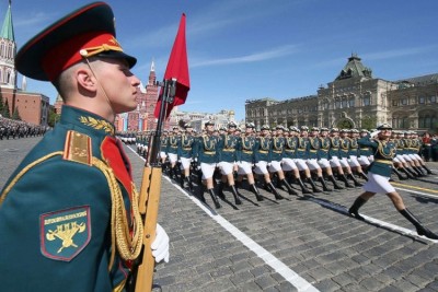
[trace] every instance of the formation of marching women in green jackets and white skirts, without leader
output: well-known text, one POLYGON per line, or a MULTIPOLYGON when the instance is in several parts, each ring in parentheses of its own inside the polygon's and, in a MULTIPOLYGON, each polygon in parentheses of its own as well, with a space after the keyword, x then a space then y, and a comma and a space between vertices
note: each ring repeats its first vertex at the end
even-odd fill
MULTIPOLYGON (((358 139, 369 136, 368 130, 337 129, 281 125, 270 129, 263 126, 256 131, 252 122, 242 131, 233 121, 228 128, 215 129, 215 121, 205 124, 201 132, 189 124, 163 131, 160 157, 163 173, 177 179, 182 188, 194 192, 206 202, 208 192, 216 208, 219 198, 226 200, 228 189, 235 205, 241 205, 239 188, 252 191, 263 201, 258 188, 270 192, 276 200, 289 195, 330 192, 333 189, 361 187, 367 168, 373 162, 371 149, 360 147, 358 139), (331 185, 328 185, 331 183, 331 185), (292 187, 296 185, 297 187, 292 187)), ((137 152, 146 156, 151 132, 120 133, 127 144, 136 144, 137 152)), ((418 155, 422 139, 414 131, 393 131, 396 144, 393 173, 401 180, 433 174, 418 155)))

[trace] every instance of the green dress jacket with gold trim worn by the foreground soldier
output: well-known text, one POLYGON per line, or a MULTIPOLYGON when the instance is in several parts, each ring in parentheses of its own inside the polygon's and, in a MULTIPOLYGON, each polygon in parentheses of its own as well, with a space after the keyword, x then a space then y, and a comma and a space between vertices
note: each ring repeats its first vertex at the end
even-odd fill
POLYGON ((120 291, 128 269, 112 241, 112 208, 119 199, 129 222, 134 195, 113 125, 64 106, 1 190, 0 290, 120 291))

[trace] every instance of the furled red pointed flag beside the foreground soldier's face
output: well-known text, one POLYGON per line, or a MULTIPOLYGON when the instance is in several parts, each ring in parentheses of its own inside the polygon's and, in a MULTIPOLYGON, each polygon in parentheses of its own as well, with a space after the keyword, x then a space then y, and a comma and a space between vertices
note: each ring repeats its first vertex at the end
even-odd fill
MULTIPOLYGON (((188 77, 187 48, 185 44, 185 14, 181 16, 180 27, 173 43, 171 57, 165 68, 164 80, 176 79, 176 94, 172 104, 168 105, 165 119, 176 105, 182 105, 187 98, 191 89, 191 80, 188 77)), ((161 89, 160 98, 155 105, 154 116, 158 118, 161 108, 161 97, 163 90, 161 89)))

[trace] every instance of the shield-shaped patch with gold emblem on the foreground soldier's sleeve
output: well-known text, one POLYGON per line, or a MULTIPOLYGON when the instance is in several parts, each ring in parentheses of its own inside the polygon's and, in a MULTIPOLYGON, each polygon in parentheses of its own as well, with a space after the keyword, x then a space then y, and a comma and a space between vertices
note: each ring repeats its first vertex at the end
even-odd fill
POLYGON ((90 207, 74 207, 39 215, 41 250, 45 257, 70 261, 90 242, 90 207))

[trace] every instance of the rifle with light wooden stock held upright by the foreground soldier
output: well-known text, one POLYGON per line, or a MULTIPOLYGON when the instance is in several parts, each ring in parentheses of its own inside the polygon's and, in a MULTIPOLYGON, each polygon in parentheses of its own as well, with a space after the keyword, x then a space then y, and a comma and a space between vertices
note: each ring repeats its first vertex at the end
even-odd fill
POLYGON ((143 246, 138 258, 131 265, 131 272, 127 281, 127 291, 146 292, 152 290, 155 260, 152 256, 151 244, 155 240, 158 208, 161 192, 161 163, 158 157, 162 124, 165 119, 168 104, 173 103, 176 91, 176 79, 157 82, 162 86, 160 115, 157 130, 149 141, 143 176, 140 188, 139 211, 143 221, 143 246))

